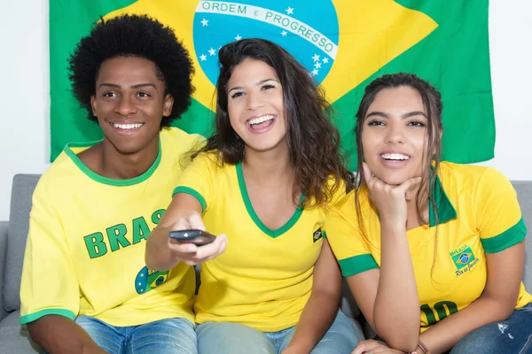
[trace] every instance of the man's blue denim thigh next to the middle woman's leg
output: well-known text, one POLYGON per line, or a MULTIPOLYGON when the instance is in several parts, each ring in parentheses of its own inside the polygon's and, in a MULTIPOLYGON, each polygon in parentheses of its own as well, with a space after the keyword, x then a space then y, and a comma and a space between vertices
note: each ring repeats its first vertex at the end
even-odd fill
POLYGON ((198 354, 196 332, 188 319, 160 319, 129 328, 126 354, 198 354))

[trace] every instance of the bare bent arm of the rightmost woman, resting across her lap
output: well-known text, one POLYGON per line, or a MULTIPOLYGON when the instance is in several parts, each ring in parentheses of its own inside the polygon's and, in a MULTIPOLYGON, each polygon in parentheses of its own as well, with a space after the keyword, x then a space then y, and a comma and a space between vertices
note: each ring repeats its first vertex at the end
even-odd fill
POLYGON ((524 259, 524 241, 497 253, 486 253, 488 279, 482 295, 419 336, 431 353, 450 350, 474 329, 510 317, 519 296, 524 259))

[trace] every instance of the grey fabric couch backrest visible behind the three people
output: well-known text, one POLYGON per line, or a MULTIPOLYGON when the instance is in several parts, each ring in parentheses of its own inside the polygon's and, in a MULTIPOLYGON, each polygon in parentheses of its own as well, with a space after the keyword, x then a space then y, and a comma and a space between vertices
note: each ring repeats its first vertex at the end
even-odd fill
MULTIPOLYGON (((20 275, 26 249, 31 196, 35 189, 39 174, 17 174, 13 177, 11 215, 7 239, 6 268, 4 277, 4 307, 7 311, 20 308, 20 275)), ((532 181, 513 181, 517 191, 521 212, 527 225, 528 235, 532 235, 532 181)), ((532 291, 532 240, 527 237, 527 258, 523 280, 527 290, 532 291)), ((344 289, 348 293, 347 286, 344 289)), ((354 315, 358 312, 352 299, 344 298, 342 308, 353 307, 354 315), (349 303, 349 304, 348 304, 349 303)))

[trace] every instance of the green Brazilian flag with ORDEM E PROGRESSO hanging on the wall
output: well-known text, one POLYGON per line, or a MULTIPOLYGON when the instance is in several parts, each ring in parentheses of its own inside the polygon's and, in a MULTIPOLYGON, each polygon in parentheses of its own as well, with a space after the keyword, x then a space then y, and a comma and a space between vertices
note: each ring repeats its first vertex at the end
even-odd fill
POLYGON ((101 139, 70 91, 67 58, 101 17, 148 14, 172 27, 196 67, 192 106, 176 126, 213 131, 212 99, 223 44, 277 42, 325 88, 343 152, 356 167, 355 113, 364 87, 383 73, 416 73, 441 90, 443 159, 493 158, 495 119, 489 0, 50 0, 51 160, 66 142, 101 139))

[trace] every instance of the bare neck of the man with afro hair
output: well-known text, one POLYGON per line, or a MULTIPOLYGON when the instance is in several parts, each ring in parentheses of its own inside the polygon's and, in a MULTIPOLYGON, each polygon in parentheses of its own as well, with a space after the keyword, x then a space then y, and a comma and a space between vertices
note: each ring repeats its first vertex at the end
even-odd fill
POLYGON ((101 151, 101 172, 104 177, 114 180, 129 180, 145 173, 159 154, 159 135, 140 151, 124 154, 111 142, 104 140, 101 151))

